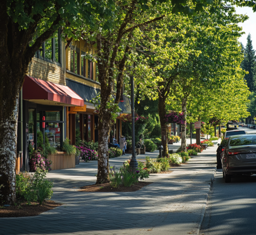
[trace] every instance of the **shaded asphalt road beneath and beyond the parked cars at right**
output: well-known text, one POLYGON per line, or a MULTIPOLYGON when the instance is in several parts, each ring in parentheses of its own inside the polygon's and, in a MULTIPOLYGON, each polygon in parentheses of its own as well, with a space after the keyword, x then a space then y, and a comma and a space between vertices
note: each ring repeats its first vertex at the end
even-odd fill
MULTIPOLYGON (((247 133, 256 130, 240 127, 247 133)), ((256 234, 256 176, 240 176, 225 183, 218 169, 208 197, 200 235, 256 234)))

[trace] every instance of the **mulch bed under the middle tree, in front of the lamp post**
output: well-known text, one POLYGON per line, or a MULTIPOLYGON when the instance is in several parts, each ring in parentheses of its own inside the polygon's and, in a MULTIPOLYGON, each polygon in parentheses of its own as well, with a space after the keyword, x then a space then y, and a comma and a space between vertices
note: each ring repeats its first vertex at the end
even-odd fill
POLYGON ((92 185, 87 185, 80 187, 80 190, 78 191, 85 191, 85 192, 104 192, 104 193, 109 193, 109 192, 134 192, 142 187, 151 184, 152 182, 142 182, 139 181, 138 183, 132 185, 131 187, 124 187, 123 185, 120 185, 118 188, 114 188, 110 185, 110 183, 105 183, 105 184, 92 184, 92 185))

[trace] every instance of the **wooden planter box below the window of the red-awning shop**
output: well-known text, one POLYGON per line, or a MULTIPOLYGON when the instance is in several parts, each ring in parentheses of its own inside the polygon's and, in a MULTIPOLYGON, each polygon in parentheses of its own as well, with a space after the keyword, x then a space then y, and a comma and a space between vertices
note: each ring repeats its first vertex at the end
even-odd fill
POLYGON ((48 160, 52 161, 52 170, 76 168, 76 157, 73 154, 66 155, 65 152, 57 152, 49 155, 48 160))

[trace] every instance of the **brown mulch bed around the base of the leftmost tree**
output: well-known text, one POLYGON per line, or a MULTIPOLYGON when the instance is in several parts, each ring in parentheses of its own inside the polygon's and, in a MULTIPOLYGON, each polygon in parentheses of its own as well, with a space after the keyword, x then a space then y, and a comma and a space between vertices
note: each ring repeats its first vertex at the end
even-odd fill
POLYGON ((37 202, 31 203, 31 205, 22 203, 20 206, 0 208, 0 218, 38 216, 40 213, 51 210, 60 205, 62 204, 50 200, 44 202, 42 205, 39 205, 37 202))

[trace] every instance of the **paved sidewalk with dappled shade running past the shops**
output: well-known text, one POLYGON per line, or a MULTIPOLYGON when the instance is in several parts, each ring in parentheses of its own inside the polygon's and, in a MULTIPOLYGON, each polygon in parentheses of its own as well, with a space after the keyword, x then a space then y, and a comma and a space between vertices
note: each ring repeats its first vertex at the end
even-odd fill
MULTIPOLYGON (((0 234, 198 234, 216 171, 216 147, 173 167, 171 174, 151 175, 147 181, 154 183, 133 193, 78 192, 95 183, 97 162, 50 172, 52 200, 65 205, 37 217, 0 219, 0 234)), ((110 165, 126 159, 129 155, 110 159, 110 165)))

